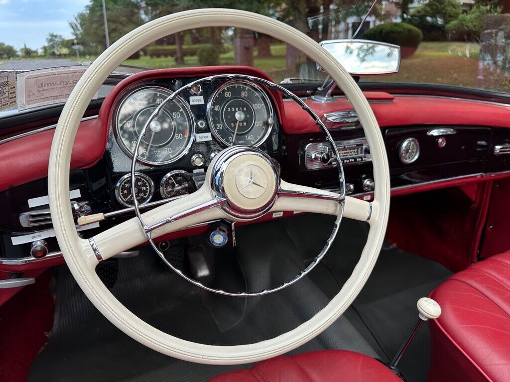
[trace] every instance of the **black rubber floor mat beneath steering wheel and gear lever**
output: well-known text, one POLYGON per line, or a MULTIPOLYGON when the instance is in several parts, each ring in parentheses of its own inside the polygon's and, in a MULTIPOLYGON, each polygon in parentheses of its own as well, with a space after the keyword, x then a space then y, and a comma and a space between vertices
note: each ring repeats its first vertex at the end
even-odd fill
MULTIPOLYGON (((241 264, 246 262, 243 271, 249 290, 295 275, 322 247, 330 224, 330 217, 309 214, 240 227, 238 258, 241 264)), ((345 220, 341 228, 325 261, 310 277, 269 296, 232 299, 202 292, 165 268, 149 249, 138 257, 118 260, 111 291, 139 317, 181 338, 228 345, 261 341, 309 319, 338 293, 366 238, 363 223, 345 220)), ((225 273, 229 283, 232 272, 225 273)), ((383 251, 353 308, 293 353, 340 348, 387 361, 415 322, 417 298, 448 274, 429 260, 395 249, 383 251)), ((32 365, 31 382, 204 381, 239 368, 183 362, 138 344, 97 312, 65 266, 58 270, 56 285, 54 328, 32 365)), ((401 361, 409 382, 423 380, 427 346, 422 329, 401 361), (420 361, 413 371, 415 357, 420 361)))

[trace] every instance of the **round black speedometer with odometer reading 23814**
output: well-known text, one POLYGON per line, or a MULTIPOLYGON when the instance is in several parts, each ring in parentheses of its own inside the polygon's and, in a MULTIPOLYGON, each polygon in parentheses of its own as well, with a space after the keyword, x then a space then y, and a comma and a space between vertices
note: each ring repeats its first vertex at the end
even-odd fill
POLYGON ((231 81, 214 91, 207 105, 211 132, 226 146, 258 146, 271 132, 274 115, 267 94, 247 81, 231 81))

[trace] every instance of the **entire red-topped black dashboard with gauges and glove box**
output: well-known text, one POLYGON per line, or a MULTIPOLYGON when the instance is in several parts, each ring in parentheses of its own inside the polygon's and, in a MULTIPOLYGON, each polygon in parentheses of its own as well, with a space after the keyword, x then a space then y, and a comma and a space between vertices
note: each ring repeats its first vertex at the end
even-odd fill
MULTIPOLYGON (((270 80, 246 67, 145 71, 116 85, 100 109, 84 118, 71 160, 70 208, 76 218, 102 213, 104 219, 77 226, 80 235, 91 237, 134 216, 130 171, 138 141, 135 190, 142 209, 195 192, 214 156, 237 144, 265 151, 286 181, 338 189, 331 147, 308 114, 281 93, 218 76, 172 96, 198 79, 228 73, 270 80)), ((365 95, 385 139, 392 195, 510 176, 507 106, 451 97, 365 95)), ((370 147, 348 101, 342 96, 329 103, 303 99, 334 138, 346 193, 371 200, 376 184, 370 147)), ((0 139, 0 269, 37 269, 63 261, 47 206, 52 136, 52 127, 46 126, 0 139), (28 152, 28 146, 38 150, 28 152), (13 173, 13 166, 19 171, 13 173)), ((164 240, 210 229, 193 227, 164 240)))

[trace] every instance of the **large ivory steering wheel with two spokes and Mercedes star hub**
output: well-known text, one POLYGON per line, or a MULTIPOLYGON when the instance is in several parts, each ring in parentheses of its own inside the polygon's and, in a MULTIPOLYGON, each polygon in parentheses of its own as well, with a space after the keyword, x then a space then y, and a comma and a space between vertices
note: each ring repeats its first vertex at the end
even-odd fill
MULTIPOLYGON (((330 138, 327 132, 326 137, 330 138)), ((67 266, 86 296, 106 318, 125 334, 161 353, 202 364, 230 365, 257 362, 288 352, 319 335, 349 307, 365 285, 384 240, 390 179, 384 141, 367 99, 350 74, 325 49, 303 33, 266 16, 233 9, 200 9, 144 24, 112 44, 87 69, 69 96, 57 124, 49 158, 48 194, 56 237, 67 266), (82 239, 75 230, 69 208, 69 166, 73 141, 90 100, 108 75, 132 54, 157 39, 183 32, 189 26, 235 27, 268 34, 294 45, 322 66, 345 93, 363 126, 376 184, 373 201, 289 184, 279 179, 272 162, 262 151, 233 146, 214 158, 207 170, 206 181, 198 191, 177 203, 169 201, 141 214, 143 226, 134 217, 91 239, 82 239), (240 190, 242 187, 236 185, 236 181, 246 181, 244 175, 251 179, 246 168, 254 169, 264 179, 263 190, 240 190), (150 228, 148 233, 156 238, 200 222, 222 218, 251 220, 276 211, 343 215, 367 221, 370 230, 360 260, 339 293, 310 320, 272 339, 218 346, 171 336, 127 310, 96 275, 95 267, 99 262, 146 242, 146 228, 150 228)))

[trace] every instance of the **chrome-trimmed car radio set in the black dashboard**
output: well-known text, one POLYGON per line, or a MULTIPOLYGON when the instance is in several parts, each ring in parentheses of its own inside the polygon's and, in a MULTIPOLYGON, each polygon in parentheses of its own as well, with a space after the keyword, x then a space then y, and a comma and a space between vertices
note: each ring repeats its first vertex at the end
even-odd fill
MULTIPOLYGON (((335 141, 343 165, 370 162, 370 148, 366 138, 335 141)), ((313 142, 304 147, 304 167, 318 170, 335 165, 333 148, 327 142, 313 142)))

